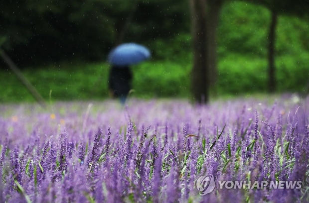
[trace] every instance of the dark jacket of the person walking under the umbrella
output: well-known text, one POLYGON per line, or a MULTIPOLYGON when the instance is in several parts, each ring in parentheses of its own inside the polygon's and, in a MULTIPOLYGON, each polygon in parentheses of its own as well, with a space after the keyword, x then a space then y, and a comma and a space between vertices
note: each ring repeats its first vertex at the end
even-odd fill
POLYGON ((131 90, 132 72, 129 67, 115 67, 110 70, 108 86, 115 97, 127 96, 131 90))

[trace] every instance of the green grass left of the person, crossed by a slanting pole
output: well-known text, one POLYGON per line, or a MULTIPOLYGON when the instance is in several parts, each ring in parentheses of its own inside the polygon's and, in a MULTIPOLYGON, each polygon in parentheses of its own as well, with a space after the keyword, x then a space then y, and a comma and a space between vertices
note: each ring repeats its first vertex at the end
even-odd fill
MULTIPOLYGON (((107 97, 108 64, 60 63, 44 68, 27 68, 24 75, 43 98, 88 100, 107 97)), ((0 102, 33 101, 10 71, 0 74, 0 102)))

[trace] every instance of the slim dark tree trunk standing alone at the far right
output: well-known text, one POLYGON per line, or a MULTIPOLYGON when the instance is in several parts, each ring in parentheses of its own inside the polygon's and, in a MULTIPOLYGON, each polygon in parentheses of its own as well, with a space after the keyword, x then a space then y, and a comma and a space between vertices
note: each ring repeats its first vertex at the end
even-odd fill
POLYGON ((276 42, 277 13, 272 11, 272 21, 269 27, 268 44, 268 88, 269 92, 276 91, 275 42, 276 42))

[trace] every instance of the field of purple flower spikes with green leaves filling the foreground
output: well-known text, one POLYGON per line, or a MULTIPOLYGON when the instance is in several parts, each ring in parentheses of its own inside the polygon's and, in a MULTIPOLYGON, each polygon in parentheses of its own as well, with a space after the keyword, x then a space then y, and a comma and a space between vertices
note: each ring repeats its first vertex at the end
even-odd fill
POLYGON ((308 124, 309 97, 2 104, 0 203, 309 202, 308 124))

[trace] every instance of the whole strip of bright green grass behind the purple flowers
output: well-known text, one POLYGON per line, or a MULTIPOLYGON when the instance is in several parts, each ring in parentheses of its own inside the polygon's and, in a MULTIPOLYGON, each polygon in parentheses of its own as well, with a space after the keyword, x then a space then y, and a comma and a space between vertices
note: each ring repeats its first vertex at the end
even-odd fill
MULTIPOLYGON (((277 93, 307 94, 309 69, 304 61, 308 55, 277 57, 277 93)), ((189 62, 147 61, 131 68, 134 97, 190 98, 189 62)), ((102 100, 108 97, 109 69, 105 62, 62 62, 26 67, 22 72, 45 100, 102 100)), ((219 59, 218 74, 214 97, 267 93, 267 62, 264 59, 230 54, 219 59)), ((0 92, 0 102, 34 101, 10 69, 0 70, 0 92)))

